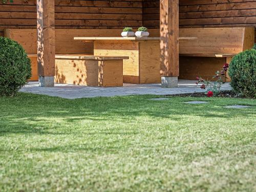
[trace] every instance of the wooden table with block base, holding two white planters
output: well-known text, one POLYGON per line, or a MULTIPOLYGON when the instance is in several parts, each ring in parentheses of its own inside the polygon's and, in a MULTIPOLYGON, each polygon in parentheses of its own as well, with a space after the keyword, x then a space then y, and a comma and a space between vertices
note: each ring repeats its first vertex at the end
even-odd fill
MULTIPOLYGON (((197 37, 180 37, 191 40, 197 37)), ((94 55, 129 56, 123 61, 124 83, 160 83, 160 37, 74 37, 94 42, 94 55)))

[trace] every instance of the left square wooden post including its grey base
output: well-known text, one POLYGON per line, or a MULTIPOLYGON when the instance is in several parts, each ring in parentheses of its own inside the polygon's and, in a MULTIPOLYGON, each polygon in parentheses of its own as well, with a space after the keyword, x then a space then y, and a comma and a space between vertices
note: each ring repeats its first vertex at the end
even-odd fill
POLYGON ((54 1, 37 0, 37 65, 39 86, 54 87, 54 1))

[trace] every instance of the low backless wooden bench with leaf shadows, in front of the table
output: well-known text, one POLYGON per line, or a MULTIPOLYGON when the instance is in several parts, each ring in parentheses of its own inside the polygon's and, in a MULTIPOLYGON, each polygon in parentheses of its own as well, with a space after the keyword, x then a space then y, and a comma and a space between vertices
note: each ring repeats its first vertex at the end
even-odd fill
POLYGON ((123 59, 81 55, 55 56, 55 82, 95 87, 123 86, 123 59))

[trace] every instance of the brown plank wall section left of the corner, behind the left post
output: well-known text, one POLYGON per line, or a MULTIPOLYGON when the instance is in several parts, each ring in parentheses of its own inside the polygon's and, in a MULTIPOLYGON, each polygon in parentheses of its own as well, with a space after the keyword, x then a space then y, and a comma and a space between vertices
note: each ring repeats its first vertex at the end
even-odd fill
MULTIPOLYGON (((56 29, 122 29, 142 26, 142 0, 55 0, 56 29)), ((4 29, 36 29, 36 0, 0 3, 4 29)))

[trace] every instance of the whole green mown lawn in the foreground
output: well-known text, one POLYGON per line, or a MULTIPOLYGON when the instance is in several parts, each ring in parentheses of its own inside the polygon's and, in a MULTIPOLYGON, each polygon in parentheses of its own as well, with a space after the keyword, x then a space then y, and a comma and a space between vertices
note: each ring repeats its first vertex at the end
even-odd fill
POLYGON ((153 97, 0 98, 0 191, 256 190, 255 100, 153 97))

